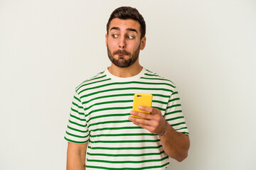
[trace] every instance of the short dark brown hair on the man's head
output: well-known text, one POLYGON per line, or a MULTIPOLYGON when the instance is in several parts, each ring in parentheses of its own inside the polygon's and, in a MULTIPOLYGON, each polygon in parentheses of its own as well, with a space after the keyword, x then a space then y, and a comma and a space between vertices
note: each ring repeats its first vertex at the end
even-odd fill
POLYGON ((109 21, 107 22, 107 35, 108 31, 110 29, 110 22, 114 18, 119 19, 133 19, 135 21, 138 21, 140 24, 140 32, 142 33, 141 39, 144 38, 146 35, 146 23, 144 21, 143 16, 139 13, 139 11, 136 8, 132 8, 130 6, 121 6, 119 8, 116 8, 110 15, 109 21))

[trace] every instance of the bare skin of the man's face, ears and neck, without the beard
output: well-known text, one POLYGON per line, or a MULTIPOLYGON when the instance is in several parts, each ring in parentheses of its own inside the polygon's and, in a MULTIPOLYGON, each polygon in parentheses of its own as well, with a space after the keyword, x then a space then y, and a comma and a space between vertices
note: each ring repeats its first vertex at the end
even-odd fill
MULTIPOLYGON (((109 35, 105 35, 106 46, 111 52, 117 50, 126 50, 132 55, 139 48, 139 50, 144 50, 146 45, 146 38, 140 39, 140 25, 139 22, 132 19, 122 20, 119 18, 114 18, 110 22, 109 35), (134 31, 136 30, 136 31, 134 31)), ((119 62, 124 62, 124 60, 129 60, 131 56, 129 55, 114 55, 115 60, 119 62)), ((117 67, 113 63, 108 68, 110 73, 117 77, 132 77, 142 71, 142 66, 139 64, 139 60, 136 60, 134 64, 130 67, 117 67)))

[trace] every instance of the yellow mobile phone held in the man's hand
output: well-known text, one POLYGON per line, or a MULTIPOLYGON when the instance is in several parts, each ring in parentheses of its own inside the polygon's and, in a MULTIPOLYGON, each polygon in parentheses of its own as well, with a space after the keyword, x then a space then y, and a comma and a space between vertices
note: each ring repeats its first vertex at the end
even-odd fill
MULTIPOLYGON (((148 106, 151 107, 152 104, 152 94, 134 94, 134 101, 132 106, 132 111, 139 111, 143 113, 149 113, 146 111, 139 110, 139 106, 148 106)), ((136 115, 132 115, 135 118, 141 118, 136 115)))

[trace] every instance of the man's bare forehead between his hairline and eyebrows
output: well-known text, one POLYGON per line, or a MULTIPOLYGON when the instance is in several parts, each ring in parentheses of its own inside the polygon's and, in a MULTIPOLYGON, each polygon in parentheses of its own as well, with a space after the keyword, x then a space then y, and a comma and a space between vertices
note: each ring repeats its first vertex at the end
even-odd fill
POLYGON ((139 33, 140 24, 138 21, 135 21, 133 19, 120 19, 120 18, 114 18, 110 22, 110 30, 113 27, 120 28, 120 30, 127 30, 127 28, 136 29, 139 33))

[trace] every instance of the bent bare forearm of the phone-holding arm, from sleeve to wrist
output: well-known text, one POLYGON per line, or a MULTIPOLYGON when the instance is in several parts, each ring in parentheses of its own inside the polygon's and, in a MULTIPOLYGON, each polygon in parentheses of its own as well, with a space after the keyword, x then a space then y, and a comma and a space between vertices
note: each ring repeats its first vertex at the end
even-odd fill
POLYGON ((164 152, 171 158, 178 162, 183 161, 188 156, 188 149, 190 141, 187 135, 176 132, 174 128, 167 123, 166 132, 160 137, 161 143, 164 147, 164 152))

